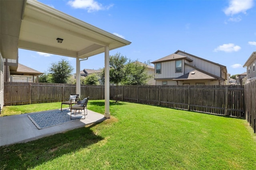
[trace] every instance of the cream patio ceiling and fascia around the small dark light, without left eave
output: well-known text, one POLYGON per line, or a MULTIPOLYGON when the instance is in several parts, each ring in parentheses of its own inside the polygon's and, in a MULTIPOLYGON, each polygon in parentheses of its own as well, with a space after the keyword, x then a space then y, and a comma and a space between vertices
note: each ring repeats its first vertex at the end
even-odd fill
POLYGON ((18 48, 84 59, 131 42, 84 21, 27 0, 20 27, 18 48), (57 38, 64 39, 57 43, 57 38))

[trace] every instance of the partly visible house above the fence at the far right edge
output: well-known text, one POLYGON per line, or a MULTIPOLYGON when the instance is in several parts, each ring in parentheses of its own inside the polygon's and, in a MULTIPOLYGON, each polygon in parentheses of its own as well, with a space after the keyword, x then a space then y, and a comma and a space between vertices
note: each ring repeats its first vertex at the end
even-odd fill
POLYGON ((243 67, 247 67, 247 82, 250 82, 256 79, 256 71, 255 71, 255 63, 256 63, 256 51, 252 52, 252 55, 245 62, 243 67))

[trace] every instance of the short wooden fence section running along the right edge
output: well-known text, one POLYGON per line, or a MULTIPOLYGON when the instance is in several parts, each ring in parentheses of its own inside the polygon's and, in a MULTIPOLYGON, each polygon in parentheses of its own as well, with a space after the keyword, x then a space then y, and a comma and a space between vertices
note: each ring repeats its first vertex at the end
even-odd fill
POLYGON ((256 79, 244 85, 246 120, 256 133, 256 79))

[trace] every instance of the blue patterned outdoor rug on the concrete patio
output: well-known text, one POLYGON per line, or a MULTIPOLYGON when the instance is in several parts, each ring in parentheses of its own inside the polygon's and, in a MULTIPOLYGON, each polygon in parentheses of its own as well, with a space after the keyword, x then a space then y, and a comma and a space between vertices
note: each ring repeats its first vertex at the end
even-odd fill
POLYGON ((72 114, 72 119, 70 119, 70 110, 54 110, 41 113, 32 113, 28 114, 28 117, 38 129, 44 129, 46 127, 52 127, 63 123, 68 123, 70 121, 84 119, 84 115, 79 114, 72 114))

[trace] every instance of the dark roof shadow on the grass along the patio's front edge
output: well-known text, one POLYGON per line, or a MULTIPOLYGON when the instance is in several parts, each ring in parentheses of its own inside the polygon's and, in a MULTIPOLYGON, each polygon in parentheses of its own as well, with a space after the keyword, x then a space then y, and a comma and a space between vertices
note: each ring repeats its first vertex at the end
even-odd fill
POLYGON ((98 143, 104 138, 95 135, 91 128, 82 127, 44 137, 28 143, 0 147, 0 169, 29 169, 64 154, 76 152, 98 143))

